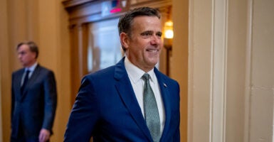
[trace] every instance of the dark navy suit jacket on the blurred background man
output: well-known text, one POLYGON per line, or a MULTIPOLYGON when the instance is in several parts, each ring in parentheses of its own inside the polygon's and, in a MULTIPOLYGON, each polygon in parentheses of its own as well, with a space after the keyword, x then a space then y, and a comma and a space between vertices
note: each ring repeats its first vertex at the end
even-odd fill
POLYGON ((19 123, 26 138, 38 137, 40 130, 52 133, 56 114, 56 80, 51 70, 37 65, 21 94, 24 69, 13 72, 11 84, 11 137, 17 138, 19 123))

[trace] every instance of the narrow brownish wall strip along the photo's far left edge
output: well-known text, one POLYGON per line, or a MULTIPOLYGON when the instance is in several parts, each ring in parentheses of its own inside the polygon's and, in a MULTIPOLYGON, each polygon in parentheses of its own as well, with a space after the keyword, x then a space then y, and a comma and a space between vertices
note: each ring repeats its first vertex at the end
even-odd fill
POLYGON ((10 84, 11 84, 11 72, 10 72, 10 60, 9 60, 9 42, 8 42, 8 13, 7 13, 7 1, 0 1, 0 97, 1 97, 1 137, 0 141, 4 141, 9 136, 10 128, 10 84))

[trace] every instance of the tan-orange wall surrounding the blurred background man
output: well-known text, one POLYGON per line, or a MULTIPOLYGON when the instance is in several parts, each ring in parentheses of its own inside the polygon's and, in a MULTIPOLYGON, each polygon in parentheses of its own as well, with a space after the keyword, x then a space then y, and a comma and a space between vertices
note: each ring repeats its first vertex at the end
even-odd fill
POLYGON ((56 74, 58 106, 51 140, 63 141, 70 113, 68 14, 61 0, 3 0, 0 6, 1 114, 4 114, 0 141, 9 141, 11 72, 21 67, 15 46, 22 40, 34 40, 40 49, 38 62, 56 74))

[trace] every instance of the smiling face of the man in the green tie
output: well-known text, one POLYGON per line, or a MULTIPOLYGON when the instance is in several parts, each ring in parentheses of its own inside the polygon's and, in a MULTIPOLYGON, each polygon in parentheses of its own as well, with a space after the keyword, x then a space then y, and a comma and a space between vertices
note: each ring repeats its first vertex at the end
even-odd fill
POLYGON ((127 35, 127 58, 144 70, 152 70, 159 61, 162 50, 162 26, 157 16, 137 16, 132 31, 127 35))

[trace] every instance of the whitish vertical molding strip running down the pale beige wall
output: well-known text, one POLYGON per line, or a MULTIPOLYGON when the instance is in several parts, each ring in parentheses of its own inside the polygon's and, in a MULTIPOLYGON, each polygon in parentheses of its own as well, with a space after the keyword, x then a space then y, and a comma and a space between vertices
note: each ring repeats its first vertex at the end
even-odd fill
POLYGON ((210 142, 226 141, 228 0, 212 2, 210 142))

